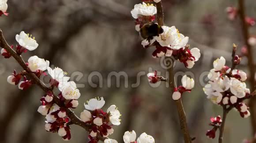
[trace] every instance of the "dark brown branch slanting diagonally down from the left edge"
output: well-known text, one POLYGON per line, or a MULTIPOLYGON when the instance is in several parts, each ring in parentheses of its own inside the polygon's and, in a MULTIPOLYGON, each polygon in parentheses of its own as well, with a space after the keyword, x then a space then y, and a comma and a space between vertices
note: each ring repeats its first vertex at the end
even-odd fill
MULTIPOLYGON (((57 97, 54 94, 53 90, 51 90, 47 86, 45 86, 45 84, 43 82, 41 82, 41 80, 38 79, 38 77, 33 72, 31 72, 30 68, 28 68, 26 66, 26 63, 24 62, 23 58, 21 56, 19 56, 18 54, 16 54, 16 52, 13 49, 11 49, 11 47, 8 45, 8 43, 4 39, 4 35, 3 35, 3 32, 1 29, 0 29, 0 46, 2 48, 4 48, 5 50, 7 50, 8 53, 10 53, 11 56, 15 58, 15 60, 22 66, 22 68, 27 72, 28 76, 34 81, 35 84, 37 84, 43 91, 53 93, 53 95, 54 95, 53 102, 55 104, 59 105, 60 107, 63 107, 63 105, 60 103, 59 97, 57 97)), ((79 125, 83 129, 89 131, 90 124, 87 124, 87 123, 81 121, 71 109, 65 108, 65 110, 66 110, 68 117, 71 119, 72 123, 74 123, 75 125, 79 125)), ((105 138, 100 137, 100 140, 104 141, 104 139, 105 138)))

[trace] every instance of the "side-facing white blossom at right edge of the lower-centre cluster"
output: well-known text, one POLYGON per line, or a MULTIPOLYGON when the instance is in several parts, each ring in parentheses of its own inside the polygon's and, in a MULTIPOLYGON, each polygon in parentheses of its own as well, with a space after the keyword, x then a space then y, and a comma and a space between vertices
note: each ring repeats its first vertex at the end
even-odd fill
POLYGON ((108 110, 107 113, 110 113, 109 116, 109 120, 113 125, 120 125, 120 112, 117 110, 117 106, 116 105, 111 105, 108 110))

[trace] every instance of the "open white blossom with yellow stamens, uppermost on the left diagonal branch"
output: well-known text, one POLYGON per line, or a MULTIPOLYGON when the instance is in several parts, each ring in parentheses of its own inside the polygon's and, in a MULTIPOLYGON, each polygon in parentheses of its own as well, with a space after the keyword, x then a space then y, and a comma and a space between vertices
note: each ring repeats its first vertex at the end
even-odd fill
POLYGON ((32 35, 26 34, 24 31, 16 35, 16 41, 20 46, 23 46, 27 50, 35 50, 38 47, 38 43, 34 38, 31 38, 32 35))

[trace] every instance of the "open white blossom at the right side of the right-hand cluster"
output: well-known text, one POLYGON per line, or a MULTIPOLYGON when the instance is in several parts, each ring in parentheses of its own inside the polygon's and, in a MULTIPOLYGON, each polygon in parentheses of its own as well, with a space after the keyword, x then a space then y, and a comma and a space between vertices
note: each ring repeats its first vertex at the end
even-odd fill
POLYGON ((231 78, 230 79, 230 91, 233 93, 237 98, 245 97, 246 91, 246 84, 245 82, 241 82, 238 79, 231 78))

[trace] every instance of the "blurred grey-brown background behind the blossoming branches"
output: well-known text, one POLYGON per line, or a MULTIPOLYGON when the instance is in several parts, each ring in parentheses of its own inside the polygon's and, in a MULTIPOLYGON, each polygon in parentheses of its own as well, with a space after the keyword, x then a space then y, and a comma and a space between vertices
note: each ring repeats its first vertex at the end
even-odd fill
MULTIPOLYGON (((147 75, 143 75, 138 87, 131 86, 136 83, 139 72, 147 73, 149 68, 161 71, 162 75, 166 72, 161 59, 151 57, 154 48, 145 50, 140 44, 130 14, 138 3, 141 1, 8 0, 9 16, 0 18, 0 28, 9 44, 17 44, 15 35, 21 31, 35 36, 39 47, 23 54, 25 61, 38 55, 49 60, 52 67, 67 71, 69 76, 74 72, 83 73, 83 77, 75 81, 84 85, 80 88, 79 107, 74 109, 78 116, 84 110, 83 103, 90 98, 103 96, 105 110, 116 104, 122 121, 114 127, 110 138, 122 143, 124 132, 135 130, 137 136, 147 132, 156 143, 183 143, 176 106, 165 83, 152 88, 147 75), (89 85, 88 75, 94 71, 102 74, 102 87, 89 85), (111 87, 107 87, 107 76, 113 71, 127 73, 128 88, 124 86, 124 78, 120 79, 120 87, 116 86, 115 79, 111 87)), ((222 115, 222 108, 207 100, 202 88, 205 72, 212 68, 212 62, 223 56, 230 65, 232 44, 238 45, 238 54, 243 46, 239 21, 229 21, 225 11, 228 6, 236 6, 236 0, 162 0, 162 3, 165 25, 175 25, 189 36, 190 46, 198 47, 202 54, 194 68, 184 68, 178 62, 174 68, 175 72, 189 71, 195 75, 195 89, 183 96, 189 130, 191 136, 196 137, 193 143, 217 143, 217 139, 208 139, 205 133, 211 129, 210 117, 222 115)), ((249 16, 256 16, 254 0, 246 0, 246 7, 249 16)), ((256 29, 250 32, 256 33, 256 29)), ((41 89, 33 86, 23 92, 6 82, 14 68, 21 70, 13 58, 1 57, 0 143, 64 143, 57 133, 44 129, 45 117, 37 112, 39 99, 44 94, 41 89)), ((239 68, 247 71, 246 58, 239 68)), ((93 82, 99 85, 98 78, 93 78, 93 82)), ((79 126, 72 125, 71 132, 70 143, 88 142, 88 133, 79 126)), ((231 111, 223 142, 241 143, 250 136, 250 119, 231 111)))

